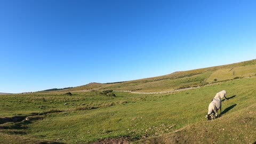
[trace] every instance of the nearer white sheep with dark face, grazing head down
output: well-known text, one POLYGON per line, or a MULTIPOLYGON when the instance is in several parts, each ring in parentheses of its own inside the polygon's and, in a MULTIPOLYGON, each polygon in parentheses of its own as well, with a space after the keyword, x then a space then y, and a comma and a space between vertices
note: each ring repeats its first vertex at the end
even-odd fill
POLYGON ((219 109, 221 114, 221 99, 213 98, 212 102, 209 104, 208 114, 205 116, 205 118, 207 118, 208 120, 214 119, 218 116, 219 109))

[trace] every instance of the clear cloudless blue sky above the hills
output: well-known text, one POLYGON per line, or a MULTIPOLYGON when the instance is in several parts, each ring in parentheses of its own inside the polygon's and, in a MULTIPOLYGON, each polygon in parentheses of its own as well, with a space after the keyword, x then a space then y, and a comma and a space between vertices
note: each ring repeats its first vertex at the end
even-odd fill
POLYGON ((256 59, 256 1, 0 0, 0 92, 256 59))

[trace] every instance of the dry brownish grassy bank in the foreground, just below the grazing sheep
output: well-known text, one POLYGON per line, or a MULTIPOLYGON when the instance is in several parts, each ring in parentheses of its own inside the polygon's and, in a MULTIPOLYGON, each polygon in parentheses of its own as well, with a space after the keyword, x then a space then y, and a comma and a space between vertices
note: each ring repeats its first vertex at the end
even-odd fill
POLYGON ((134 143, 255 143, 256 105, 224 115, 211 122, 198 122, 182 129, 134 143))

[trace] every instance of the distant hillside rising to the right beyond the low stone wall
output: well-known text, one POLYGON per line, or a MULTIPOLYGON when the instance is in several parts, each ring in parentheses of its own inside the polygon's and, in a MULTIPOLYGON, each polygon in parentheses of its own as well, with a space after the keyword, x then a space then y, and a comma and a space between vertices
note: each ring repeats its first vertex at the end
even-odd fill
POLYGON ((130 91, 138 93, 167 92, 189 87, 204 86, 212 83, 256 75, 256 60, 232 63, 187 71, 176 71, 169 75, 137 79, 116 83, 89 83, 70 89, 50 89, 46 91, 130 91))

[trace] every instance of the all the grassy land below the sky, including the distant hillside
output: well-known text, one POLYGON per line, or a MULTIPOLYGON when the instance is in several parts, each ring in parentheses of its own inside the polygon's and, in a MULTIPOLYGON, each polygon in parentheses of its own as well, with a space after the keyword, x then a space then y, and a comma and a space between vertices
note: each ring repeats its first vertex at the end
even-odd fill
POLYGON ((92 83, 90 89, 85 85, 57 92, 0 95, 0 143, 103 143, 119 139, 134 143, 253 143, 254 63, 116 84, 92 83), (215 74, 217 79, 222 73, 227 77, 231 68, 237 73, 235 77, 241 78, 206 83, 215 74), (201 87, 162 94, 124 92, 159 92, 188 86, 201 87), (116 97, 102 94, 106 89, 115 90, 116 97), (222 116, 207 121, 208 105, 221 90, 227 91, 228 99, 222 102, 222 116))

